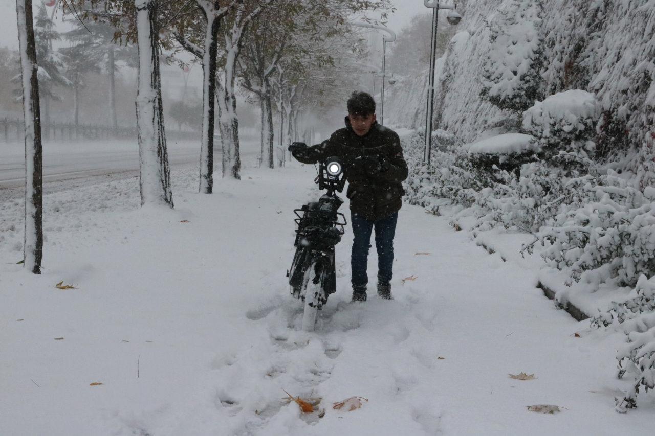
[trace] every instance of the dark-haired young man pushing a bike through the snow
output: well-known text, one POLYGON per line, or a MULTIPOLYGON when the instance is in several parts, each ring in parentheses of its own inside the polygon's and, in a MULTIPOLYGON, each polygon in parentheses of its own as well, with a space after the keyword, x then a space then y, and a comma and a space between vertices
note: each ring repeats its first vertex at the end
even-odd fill
POLYGON ((391 297, 394 263, 394 234, 398 210, 405 193, 400 182, 407 178, 407 163, 400 138, 376 122, 375 100, 365 92, 353 92, 348 99, 346 127, 313 147, 293 143, 289 151, 304 164, 315 164, 331 156, 343 160, 348 180, 352 242, 352 300, 366 300, 371 232, 375 228, 378 255, 377 293, 391 297))

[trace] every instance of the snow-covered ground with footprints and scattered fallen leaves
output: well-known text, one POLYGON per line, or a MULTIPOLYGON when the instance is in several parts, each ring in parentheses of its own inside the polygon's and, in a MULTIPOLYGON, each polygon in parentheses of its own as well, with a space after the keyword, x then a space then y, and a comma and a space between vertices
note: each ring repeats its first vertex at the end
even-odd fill
POLYGON ((614 412, 622 337, 555 310, 533 259, 405 204, 395 300, 369 283, 349 303, 346 227, 337 293, 305 333, 285 272, 314 168, 216 174, 214 194, 197 172, 172 172, 175 211, 140 209, 131 178, 47 194, 41 276, 16 264, 22 200, 0 203, 0 435, 650 434, 652 394, 614 412), (332 408, 354 395, 361 409, 332 408))

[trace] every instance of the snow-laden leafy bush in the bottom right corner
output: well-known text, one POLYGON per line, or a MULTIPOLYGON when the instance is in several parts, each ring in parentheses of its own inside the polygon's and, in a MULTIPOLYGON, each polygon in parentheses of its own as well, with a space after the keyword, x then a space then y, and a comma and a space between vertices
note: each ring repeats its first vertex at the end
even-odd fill
POLYGON ((633 374, 635 384, 622 399, 616 398, 619 412, 637 407, 641 386, 655 389, 655 276, 642 275, 625 302, 612 302, 612 308, 591 320, 592 327, 618 323, 627 335, 627 344, 618 350, 618 377, 633 374))

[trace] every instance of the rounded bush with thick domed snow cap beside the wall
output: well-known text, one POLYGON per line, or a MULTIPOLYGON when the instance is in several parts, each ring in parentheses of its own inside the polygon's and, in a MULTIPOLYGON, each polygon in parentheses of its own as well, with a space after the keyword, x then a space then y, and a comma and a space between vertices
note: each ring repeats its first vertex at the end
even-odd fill
POLYGON ((542 158, 550 159, 561 152, 567 158, 561 166, 579 166, 593 157, 595 120, 599 104, 593 94, 583 90, 558 92, 544 101, 537 101, 523 112, 523 131, 536 137, 542 158))

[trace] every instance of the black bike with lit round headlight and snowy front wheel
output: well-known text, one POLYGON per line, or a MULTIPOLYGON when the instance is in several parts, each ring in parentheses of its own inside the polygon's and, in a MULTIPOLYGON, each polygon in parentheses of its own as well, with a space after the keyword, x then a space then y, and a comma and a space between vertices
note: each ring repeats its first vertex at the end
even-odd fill
POLYGON ((314 179, 318 189, 327 189, 318 202, 309 202, 294 209, 296 247, 287 277, 291 295, 303 301, 305 331, 314 331, 318 310, 327 304, 327 297, 337 290, 334 247, 345 232, 346 217, 337 210, 343 204, 337 192, 346 183, 344 166, 339 158, 319 162, 314 179), (342 218, 343 221, 339 219, 342 218))

